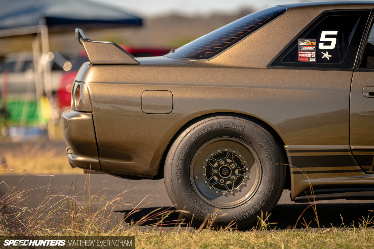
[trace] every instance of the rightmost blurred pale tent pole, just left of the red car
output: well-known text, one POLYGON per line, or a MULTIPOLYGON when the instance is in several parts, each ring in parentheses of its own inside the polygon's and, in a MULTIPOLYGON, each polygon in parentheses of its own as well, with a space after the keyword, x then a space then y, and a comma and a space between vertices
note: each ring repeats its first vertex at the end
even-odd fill
MULTIPOLYGON (((47 25, 43 24, 40 28, 40 35, 42 38, 42 64, 43 64, 43 76, 44 76, 44 89, 47 100, 49 102, 49 116, 48 118, 48 138, 54 140, 56 138, 55 132, 55 117, 53 113, 53 96, 52 96, 52 78, 50 74, 50 62, 46 60, 46 55, 49 53, 49 38, 47 25)), ((47 109, 49 109, 47 108, 47 109)))

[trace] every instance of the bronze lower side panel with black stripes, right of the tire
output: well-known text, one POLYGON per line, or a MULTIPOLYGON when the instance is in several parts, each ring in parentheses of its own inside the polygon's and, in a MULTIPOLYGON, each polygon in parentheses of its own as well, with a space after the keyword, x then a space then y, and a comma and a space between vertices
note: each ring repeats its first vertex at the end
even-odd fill
MULTIPOLYGON (((291 173, 291 200, 310 186, 316 189, 374 186, 374 177, 362 170, 350 146, 285 146, 291 173)), ((338 198, 341 199, 341 198, 338 198)))

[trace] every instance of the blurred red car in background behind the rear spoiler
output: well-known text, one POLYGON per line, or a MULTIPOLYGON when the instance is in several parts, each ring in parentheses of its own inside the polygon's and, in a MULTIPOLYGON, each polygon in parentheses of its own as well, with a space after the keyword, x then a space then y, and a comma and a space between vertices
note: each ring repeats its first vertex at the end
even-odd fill
MULTIPOLYGON (((162 56, 170 52, 170 49, 156 49, 147 47, 128 47, 121 46, 126 52, 130 53, 134 57, 148 57, 148 56, 162 56)), ((83 49, 79 53, 79 57, 71 63, 71 69, 64 72, 61 76, 59 88, 57 90, 58 105, 61 109, 70 108, 70 90, 71 85, 74 82, 75 75, 77 74, 80 66, 88 61, 86 51, 83 49)))

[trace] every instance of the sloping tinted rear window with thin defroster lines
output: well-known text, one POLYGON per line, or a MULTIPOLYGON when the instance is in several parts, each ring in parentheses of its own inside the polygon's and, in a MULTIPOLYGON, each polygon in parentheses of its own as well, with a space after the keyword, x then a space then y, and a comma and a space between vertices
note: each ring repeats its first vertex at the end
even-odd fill
POLYGON ((275 6, 254 12, 197 38, 174 50, 174 53, 168 53, 166 56, 178 59, 209 59, 272 21, 285 11, 285 7, 275 6))

